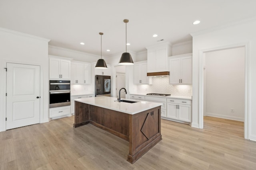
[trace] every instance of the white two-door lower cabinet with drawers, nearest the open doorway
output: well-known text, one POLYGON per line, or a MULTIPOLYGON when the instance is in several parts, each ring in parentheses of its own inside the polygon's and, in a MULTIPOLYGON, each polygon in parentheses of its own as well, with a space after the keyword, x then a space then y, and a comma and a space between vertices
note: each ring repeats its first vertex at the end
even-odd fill
POLYGON ((191 122, 191 100, 167 99, 167 118, 191 122))

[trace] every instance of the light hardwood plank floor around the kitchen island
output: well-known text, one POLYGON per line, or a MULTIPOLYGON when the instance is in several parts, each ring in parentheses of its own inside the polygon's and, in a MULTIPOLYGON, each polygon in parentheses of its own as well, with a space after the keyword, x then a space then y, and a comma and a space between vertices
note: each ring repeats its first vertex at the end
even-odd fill
POLYGON ((162 141, 134 164, 126 161, 127 141, 73 123, 72 116, 0 132, 0 169, 256 169, 256 142, 243 138, 239 121, 205 117, 196 129, 162 119, 162 141))

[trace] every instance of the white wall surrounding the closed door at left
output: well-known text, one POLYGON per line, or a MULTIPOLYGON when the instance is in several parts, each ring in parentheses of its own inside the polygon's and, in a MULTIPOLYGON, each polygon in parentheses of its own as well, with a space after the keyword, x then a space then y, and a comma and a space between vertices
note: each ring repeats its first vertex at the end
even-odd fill
POLYGON ((40 123, 48 121, 49 64, 48 39, 0 28, 0 131, 6 129, 6 62, 40 65, 40 123))

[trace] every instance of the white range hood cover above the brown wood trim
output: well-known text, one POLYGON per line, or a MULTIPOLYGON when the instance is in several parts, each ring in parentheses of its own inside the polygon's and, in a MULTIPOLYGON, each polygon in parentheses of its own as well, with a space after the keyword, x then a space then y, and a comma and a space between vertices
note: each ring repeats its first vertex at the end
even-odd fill
POLYGON ((171 55, 170 43, 146 47, 148 51, 147 72, 169 71, 168 56, 171 55))

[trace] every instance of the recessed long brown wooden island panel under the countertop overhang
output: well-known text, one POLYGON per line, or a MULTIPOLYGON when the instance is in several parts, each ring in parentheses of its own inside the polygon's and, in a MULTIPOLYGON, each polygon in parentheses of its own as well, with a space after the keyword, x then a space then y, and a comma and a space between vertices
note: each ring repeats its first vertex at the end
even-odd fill
POLYGON ((92 125, 129 140, 129 114, 92 105, 90 112, 92 125))

